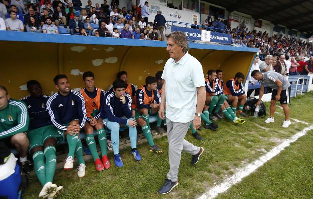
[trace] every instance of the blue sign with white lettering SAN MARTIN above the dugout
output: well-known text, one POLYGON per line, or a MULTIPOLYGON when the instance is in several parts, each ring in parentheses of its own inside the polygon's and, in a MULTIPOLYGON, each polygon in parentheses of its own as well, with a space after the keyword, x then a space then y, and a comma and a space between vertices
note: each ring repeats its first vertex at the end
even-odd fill
MULTIPOLYGON (((200 29, 192 29, 192 28, 186 28, 186 27, 172 26, 171 32, 174 32, 174 31, 183 32, 187 36, 188 40, 201 40, 201 30, 200 29)), ((231 38, 230 34, 224 34, 224 33, 211 31, 210 41, 222 43, 222 44, 231 44, 232 38, 231 38)))

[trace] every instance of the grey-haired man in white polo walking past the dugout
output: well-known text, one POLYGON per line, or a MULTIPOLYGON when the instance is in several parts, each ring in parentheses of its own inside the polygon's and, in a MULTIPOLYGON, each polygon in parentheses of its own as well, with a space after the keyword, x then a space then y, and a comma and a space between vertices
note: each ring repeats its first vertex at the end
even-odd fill
POLYGON ((159 116, 164 119, 166 101, 170 170, 168 178, 158 191, 160 194, 169 193, 178 185, 182 150, 192 154, 192 165, 198 162, 204 151, 202 147, 194 146, 184 139, 191 121, 195 129, 201 125, 200 116, 206 97, 202 66, 188 54, 188 42, 184 33, 175 31, 166 38, 170 58, 161 77, 165 81, 159 116))

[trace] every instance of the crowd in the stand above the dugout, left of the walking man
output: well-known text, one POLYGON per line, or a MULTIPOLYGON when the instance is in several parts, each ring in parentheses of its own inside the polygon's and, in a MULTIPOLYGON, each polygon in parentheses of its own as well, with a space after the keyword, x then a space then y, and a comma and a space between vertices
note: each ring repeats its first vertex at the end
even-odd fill
POLYGON ((159 11, 148 23, 148 7, 142 0, 138 5, 130 0, 122 9, 117 0, 111 5, 104 0, 101 6, 88 0, 85 7, 80 0, 0 0, 0 30, 59 34, 65 28, 82 36, 164 40, 166 20, 159 11))

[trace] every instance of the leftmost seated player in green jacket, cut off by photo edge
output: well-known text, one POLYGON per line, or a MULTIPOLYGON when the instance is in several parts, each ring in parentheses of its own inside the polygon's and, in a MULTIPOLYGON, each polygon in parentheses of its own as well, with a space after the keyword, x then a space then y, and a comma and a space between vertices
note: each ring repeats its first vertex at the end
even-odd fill
POLYGON ((25 132, 28 130, 28 125, 25 103, 11 99, 7 89, 0 86, 0 141, 17 149, 24 173, 32 172, 32 164, 27 160, 29 140, 25 132))

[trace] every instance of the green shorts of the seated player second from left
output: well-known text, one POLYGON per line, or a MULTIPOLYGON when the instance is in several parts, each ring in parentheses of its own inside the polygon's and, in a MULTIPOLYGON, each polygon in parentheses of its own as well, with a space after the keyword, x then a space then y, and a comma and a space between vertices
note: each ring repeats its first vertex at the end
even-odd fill
POLYGON ((57 141, 61 140, 57 128, 53 125, 27 131, 27 138, 30 141, 30 150, 37 146, 43 146, 45 141, 50 137, 57 139, 57 141))

